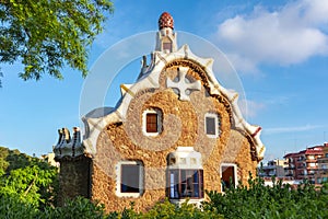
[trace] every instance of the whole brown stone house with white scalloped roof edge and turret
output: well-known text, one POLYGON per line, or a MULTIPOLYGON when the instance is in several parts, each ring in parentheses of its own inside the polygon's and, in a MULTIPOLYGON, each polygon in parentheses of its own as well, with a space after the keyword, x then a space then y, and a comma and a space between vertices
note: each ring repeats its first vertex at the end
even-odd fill
POLYGON ((107 211, 121 211, 133 203, 136 210, 144 211, 167 197, 200 203, 207 198, 203 191, 223 192, 226 166, 234 185, 247 184, 249 173, 255 175, 265 152, 261 128, 243 118, 238 95, 216 81, 212 59, 197 57, 187 45, 177 49, 168 13, 162 14, 159 26, 150 65, 143 58, 138 81, 121 85, 118 106, 83 118, 83 145, 77 145, 77 139, 67 143, 67 135, 60 135, 55 152, 61 165, 62 197, 83 195, 105 204, 107 211), (148 112, 156 114, 156 132, 147 131, 148 112), (189 158, 188 151, 197 158, 189 158), (122 163, 134 163, 138 174, 124 176, 122 163), (194 175, 184 176, 192 171, 194 175), (126 193, 126 177, 134 177, 138 189, 126 193), (191 185, 189 180, 192 195, 185 196, 181 191, 191 185))

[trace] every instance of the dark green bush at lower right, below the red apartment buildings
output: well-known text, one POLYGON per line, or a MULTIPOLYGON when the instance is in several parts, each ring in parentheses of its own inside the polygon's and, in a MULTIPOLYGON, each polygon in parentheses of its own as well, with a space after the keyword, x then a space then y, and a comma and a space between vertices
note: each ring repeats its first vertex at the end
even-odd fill
POLYGON ((316 191, 304 182, 293 189, 289 184, 276 182, 265 186, 263 180, 249 180, 249 186, 239 185, 225 194, 208 192, 210 201, 204 210, 224 215, 224 218, 328 218, 327 185, 316 191))

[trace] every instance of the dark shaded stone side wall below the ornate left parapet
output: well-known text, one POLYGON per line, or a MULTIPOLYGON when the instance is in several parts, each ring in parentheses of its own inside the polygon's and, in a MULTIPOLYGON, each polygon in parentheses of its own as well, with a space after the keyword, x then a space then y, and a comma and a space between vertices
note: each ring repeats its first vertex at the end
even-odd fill
POLYGON ((59 162, 59 205, 62 205, 66 198, 77 196, 89 198, 91 159, 81 155, 74 159, 62 159, 59 162))

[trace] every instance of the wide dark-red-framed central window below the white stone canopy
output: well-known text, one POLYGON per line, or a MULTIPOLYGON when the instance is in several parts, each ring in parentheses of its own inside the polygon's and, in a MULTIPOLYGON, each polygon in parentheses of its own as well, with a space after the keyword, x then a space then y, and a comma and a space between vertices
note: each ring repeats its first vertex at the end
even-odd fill
POLYGON ((202 170, 169 170, 169 198, 203 198, 202 170))

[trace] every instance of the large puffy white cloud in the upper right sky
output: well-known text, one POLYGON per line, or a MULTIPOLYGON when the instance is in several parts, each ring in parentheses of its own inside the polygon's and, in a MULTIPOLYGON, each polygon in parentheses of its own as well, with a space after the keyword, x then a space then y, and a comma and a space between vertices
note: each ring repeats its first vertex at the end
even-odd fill
POLYGON ((215 37, 236 69, 256 71, 260 64, 291 65, 328 55, 327 24, 327 0, 300 0, 225 20, 215 37))

